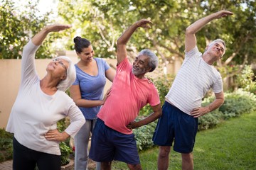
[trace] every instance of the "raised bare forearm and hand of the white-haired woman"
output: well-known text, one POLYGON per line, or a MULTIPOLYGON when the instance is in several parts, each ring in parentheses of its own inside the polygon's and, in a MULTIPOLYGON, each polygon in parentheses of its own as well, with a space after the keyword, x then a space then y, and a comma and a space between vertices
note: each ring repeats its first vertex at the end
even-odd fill
POLYGON ((37 33, 35 36, 32 38, 32 42, 34 45, 41 45, 43 40, 46 38, 46 35, 50 32, 58 32, 60 30, 65 30, 71 28, 70 25, 63 25, 59 23, 55 23, 50 26, 44 27, 39 33, 37 33))

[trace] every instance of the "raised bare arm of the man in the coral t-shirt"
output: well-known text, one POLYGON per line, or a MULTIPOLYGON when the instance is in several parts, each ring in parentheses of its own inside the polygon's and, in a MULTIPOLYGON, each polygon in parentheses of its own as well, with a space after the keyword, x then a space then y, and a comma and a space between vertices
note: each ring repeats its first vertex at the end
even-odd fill
POLYGON ((149 20, 142 19, 137 21, 136 23, 132 24, 127 30, 124 31, 124 33, 118 38, 117 40, 117 65, 122 62, 127 57, 127 50, 126 50, 126 44, 131 38, 134 31, 139 28, 151 28, 149 26, 149 23, 152 23, 149 20))

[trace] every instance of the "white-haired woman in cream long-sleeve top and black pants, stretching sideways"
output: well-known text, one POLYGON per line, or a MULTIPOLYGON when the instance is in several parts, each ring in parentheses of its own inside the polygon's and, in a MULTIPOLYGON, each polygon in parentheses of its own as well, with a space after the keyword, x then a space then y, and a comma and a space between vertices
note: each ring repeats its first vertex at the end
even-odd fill
POLYGON ((68 57, 57 57, 39 79, 35 54, 46 35, 70 28, 53 24, 37 33, 23 48, 21 85, 11 110, 6 131, 14 133, 13 169, 60 169, 59 142, 74 136, 85 123, 80 109, 65 91, 75 81, 75 67, 68 57), (69 116, 71 123, 64 132, 56 123, 69 116))

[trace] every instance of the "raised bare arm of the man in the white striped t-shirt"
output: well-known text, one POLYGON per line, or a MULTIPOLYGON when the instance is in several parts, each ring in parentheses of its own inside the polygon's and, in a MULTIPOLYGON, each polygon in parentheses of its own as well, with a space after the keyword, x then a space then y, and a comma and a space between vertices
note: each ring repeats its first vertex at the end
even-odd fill
POLYGON ((192 23, 188 28, 186 28, 186 40, 185 40, 185 52, 188 52, 196 46, 196 33, 198 30, 201 30, 207 23, 213 21, 214 19, 222 18, 224 16, 233 15, 230 11, 218 11, 216 13, 212 13, 209 16, 199 19, 195 23, 192 23))

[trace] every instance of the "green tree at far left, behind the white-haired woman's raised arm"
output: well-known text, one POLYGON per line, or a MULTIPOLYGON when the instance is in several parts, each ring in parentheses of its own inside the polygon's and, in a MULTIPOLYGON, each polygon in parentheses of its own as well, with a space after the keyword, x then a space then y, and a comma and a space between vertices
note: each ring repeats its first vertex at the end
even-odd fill
MULTIPOLYGON (((37 16, 38 1, 29 2, 23 11, 14 6, 14 1, 1 0, 0 2, 0 59, 20 59, 23 46, 31 36, 50 22, 48 14, 37 16), (26 10, 25 10, 26 9, 26 10)), ((50 50, 50 44, 54 36, 50 36, 44 45, 39 48, 36 57, 53 57, 54 51, 50 50)))

